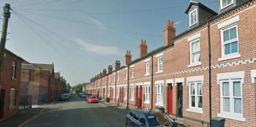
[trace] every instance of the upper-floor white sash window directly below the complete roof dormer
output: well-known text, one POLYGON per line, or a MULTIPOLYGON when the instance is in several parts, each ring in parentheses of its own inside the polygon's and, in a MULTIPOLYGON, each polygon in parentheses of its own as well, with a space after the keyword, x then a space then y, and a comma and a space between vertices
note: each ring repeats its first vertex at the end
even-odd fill
POLYGON ((200 39, 190 42, 190 64, 200 62, 200 39))

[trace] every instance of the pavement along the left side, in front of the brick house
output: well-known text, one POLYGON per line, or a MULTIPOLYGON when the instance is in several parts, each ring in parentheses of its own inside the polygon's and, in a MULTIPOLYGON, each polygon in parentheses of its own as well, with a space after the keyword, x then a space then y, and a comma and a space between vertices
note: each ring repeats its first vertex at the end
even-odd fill
POLYGON ((0 121, 0 127, 17 127, 25 121, 31 119, 38 113, 46 110, 50 105, 56 103, 57 100, 42 104, 42 106, 32 107, 30 109, 24 110, 12 117, 0 121))

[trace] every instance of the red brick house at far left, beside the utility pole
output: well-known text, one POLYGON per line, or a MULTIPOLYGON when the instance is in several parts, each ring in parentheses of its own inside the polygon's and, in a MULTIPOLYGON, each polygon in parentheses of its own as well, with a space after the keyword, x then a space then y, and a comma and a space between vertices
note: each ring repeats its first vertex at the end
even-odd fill
POLYGON ((0 86, 0 119, 18 113, 21 63, 24 61, 8 49, 4 51, 0 86))

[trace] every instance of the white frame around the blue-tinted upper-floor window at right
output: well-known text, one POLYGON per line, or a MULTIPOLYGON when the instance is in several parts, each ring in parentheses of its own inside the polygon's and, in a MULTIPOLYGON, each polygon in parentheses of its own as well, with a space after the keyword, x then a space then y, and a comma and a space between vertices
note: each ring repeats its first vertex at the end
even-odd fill
POLYGON ((224 57, 230 57, 232 55, 238 55, 239 54, 239 39, 238 39, 238 28, 237 28, 237 23, 234 23, 232 25, 228 25, 227 27, 224 27, 222 29, 220 29, 220 38, 221 38, 221 56, 222 58, 224 57), (231 28, 234 28, 236 27, 236 39, 232 39, 228 42, 226 42, 225 44, 229 44, 229 43, 232 43, 234 41, 237 41, 237 52, 236 53, 231 53, 231 54, 228 54, 228 55, 225 55, 225 48, 224 48, 224 35, 223 35, 223 32, 228 30, 228 29, 231 29, 231 28))

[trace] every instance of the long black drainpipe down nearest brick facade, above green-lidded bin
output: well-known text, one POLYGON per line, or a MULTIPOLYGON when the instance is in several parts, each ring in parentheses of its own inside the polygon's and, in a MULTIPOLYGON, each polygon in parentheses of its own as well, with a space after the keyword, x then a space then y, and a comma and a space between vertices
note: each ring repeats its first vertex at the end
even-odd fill
POLYGON ((210 120, 210 126, 211 126, 211 118, 212 118, 212 75, 211 75, 211 45, 210 45, 210 22, 207 21, 208 25, 208 54, 209 54, 209 120, 210 120))

